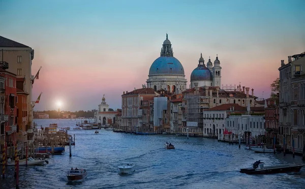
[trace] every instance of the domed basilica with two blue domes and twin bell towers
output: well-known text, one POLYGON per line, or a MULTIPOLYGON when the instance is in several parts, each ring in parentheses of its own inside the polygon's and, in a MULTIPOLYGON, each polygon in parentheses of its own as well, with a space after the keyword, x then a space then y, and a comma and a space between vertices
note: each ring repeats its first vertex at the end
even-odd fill
MULTIPOLYGON (((210 58, 205 66, 201 53, 197 68, 191 74, 190 87, 193 88, 195 83, 198 83, 198 87, 219 86, 221 88, 221 69, 218 56, 216 56, 214 66, 210 58)), ((173 48, 167 34, 161 48, 160 57, 150 66, 146 83, 149 88, 165 89, 176 94, 187 89, 184 68, 180 61, 173 56, 173 48)))

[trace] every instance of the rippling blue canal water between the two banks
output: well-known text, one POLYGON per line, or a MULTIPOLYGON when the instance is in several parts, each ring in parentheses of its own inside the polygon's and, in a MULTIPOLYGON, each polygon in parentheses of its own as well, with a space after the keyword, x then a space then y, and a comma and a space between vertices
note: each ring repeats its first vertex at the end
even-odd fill
MULTIPOLYGON (((298 174, 246 175, 240 168, 251 167, 257 160, 265 165, 302 163, 291 154, 255 153, 245 146, 221 143, 215 139, 189 138, 173 135, 141 136, 114 133, 104 129, 73 130, 80 120, 35 120, 43 127, 57 122, 58 128, 70 126, 76 145, 62 155, 53 155, 45 166, 20 167, 20 188, 303 188, 305 168, 298 174), (175 145, 166 150, 165 142, 175 145), (123 162, 136 164, 136 171, 120 175, 117 166, 123 162), (67 182, 71 167, 84 168, 87 178, 77 184, 67 182)), ((2 169, 2 168, 0 168, 2 169)), ((15 188, 14 167, 1 188, 15 188)))

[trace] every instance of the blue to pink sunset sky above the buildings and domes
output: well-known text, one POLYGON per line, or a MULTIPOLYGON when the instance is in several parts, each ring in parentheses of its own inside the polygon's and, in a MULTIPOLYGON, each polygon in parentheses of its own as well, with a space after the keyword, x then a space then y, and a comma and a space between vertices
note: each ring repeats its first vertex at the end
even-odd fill
POLYGON ((0 36, 35 50, 35 110, 98 109, 103 94, 121 107, 123 91, 141 88, 168 38, 188 85, 200 53, 218 54, 222 84, 268 98, 281 60, 305 51, 303 0, 6 1, 0 36))

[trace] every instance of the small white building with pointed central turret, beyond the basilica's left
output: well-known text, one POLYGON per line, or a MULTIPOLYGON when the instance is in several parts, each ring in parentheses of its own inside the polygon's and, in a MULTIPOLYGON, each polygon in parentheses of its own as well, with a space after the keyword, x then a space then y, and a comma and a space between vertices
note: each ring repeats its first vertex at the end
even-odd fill
POLYGON ((105 94, 102 98, 101 104, 99 104, 98 112, 95 112, 95 122, 101 125, 115 124, 116 111, 109 111, 109 105, 106 103, 105 94))

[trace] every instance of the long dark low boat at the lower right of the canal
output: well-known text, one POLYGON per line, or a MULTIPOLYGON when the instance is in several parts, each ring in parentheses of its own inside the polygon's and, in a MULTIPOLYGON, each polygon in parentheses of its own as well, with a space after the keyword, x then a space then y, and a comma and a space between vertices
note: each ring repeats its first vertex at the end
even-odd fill
POLYGON ((252 168, 240 169, 240 173, 246 174, 272 174, 272 173, 287 173, 299 172, 305 164, 283 164, 264 167, 264 163, 257 161, 252 168))

